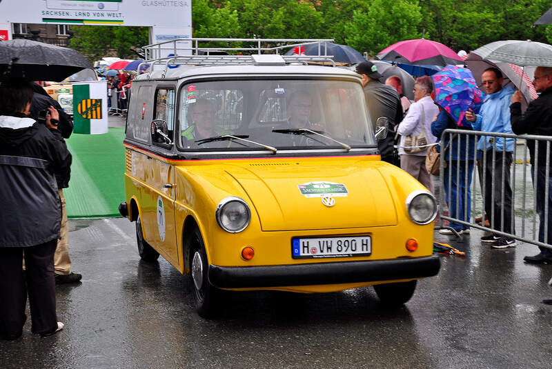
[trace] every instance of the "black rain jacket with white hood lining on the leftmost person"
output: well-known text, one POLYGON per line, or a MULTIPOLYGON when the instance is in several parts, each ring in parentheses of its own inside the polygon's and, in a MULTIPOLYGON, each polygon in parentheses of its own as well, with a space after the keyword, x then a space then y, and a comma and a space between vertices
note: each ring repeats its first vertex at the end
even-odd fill
POLYGON ((23 114, 0 115, 0 247, 27 247, 60 237, 55 172, 69 166, 59 132, 23 114))

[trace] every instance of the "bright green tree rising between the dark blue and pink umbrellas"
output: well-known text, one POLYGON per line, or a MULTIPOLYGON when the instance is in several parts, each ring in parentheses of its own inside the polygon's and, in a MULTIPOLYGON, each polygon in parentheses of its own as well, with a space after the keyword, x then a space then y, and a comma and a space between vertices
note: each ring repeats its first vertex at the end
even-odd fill
POLYGON ((387 46, 421 37, 422 14, 417 0, 371 0, 346 23, 346 43, 375 55, 387 46))

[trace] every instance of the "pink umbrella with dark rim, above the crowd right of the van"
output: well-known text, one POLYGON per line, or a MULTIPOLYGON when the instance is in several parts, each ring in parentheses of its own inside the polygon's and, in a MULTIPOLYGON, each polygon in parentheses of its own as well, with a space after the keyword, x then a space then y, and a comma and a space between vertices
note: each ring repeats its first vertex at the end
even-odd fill
POLYGON ((462 63, 462 58, 451 48, 426 39, 405 40, 393 43, 377 54, 381 60, 429 66, 446 66, 462 63))

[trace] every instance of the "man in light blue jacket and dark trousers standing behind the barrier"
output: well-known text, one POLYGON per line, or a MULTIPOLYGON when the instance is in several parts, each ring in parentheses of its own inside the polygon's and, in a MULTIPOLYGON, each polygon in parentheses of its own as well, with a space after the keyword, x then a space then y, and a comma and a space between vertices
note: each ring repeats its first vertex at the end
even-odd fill
MULTIPOLYGON (((497 133, 513 133, 510 123, 510 101, 515 92, 510 86, 502 88, 502 72, 497 68, 486 69, 481 77, 487 94, 481 106, 480 114, 466 112, 466 119, 472 122, 474 130, 497 133)), ((483 136, 477 143, 477 150, 482 152, 479 163, 485 183, 485 213, 493 230, 513 234, 512 224, 512 188, 510 166, 513 161, 513 139, 483 136), (493 152, 495 147, 495 152, 493 152), (504 183, 504 193, 502 192, 504 183), (504 196, 504 202, 502 202, 504 196)), ((489 235, 481 237, 482 242, 490 242, 492 248, 509 248, 515 246, 515 239, 489 235)))

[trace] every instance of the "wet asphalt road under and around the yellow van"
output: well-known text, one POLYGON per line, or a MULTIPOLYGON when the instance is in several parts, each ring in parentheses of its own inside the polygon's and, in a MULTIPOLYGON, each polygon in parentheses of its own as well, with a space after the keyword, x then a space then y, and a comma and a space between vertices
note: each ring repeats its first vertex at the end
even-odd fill
MULTIPOLYGON (((164 259, 139 260, 134 223, 72 220, 82 283, 57 286, 66 328, 0 341, 0 368, 550 368, 552 266, 522 260, 534 246, 492 250, 479 231, 442 257, 404 308, 372 288, 330 294, 228 293, 199 318, 189 279, 164 259)), ((437 236, 446 241, 449 237, 437 236)))

